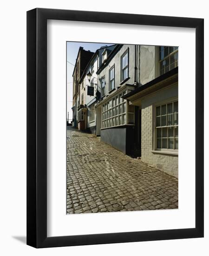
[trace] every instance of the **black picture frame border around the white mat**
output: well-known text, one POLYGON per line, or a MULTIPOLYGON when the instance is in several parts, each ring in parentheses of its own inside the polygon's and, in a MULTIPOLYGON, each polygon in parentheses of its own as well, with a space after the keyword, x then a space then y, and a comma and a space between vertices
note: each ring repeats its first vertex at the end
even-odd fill
POLYGON ((204 20, 36 8, 27 12, 27 244, 35 248, 203 237, 204 20), (47 237, 47 20, 196 29, 196 227, 47 237))

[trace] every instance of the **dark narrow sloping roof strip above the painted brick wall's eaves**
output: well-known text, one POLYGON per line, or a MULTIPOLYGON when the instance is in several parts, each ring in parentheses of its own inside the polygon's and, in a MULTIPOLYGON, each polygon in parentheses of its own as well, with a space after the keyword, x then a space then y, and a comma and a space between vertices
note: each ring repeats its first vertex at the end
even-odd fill
POLYGON ((124 99, 128 99, 129 97, 141 92, 141 91, 144 91, 145 89, 148 89, 148 88, 151 88, 152 86, 172 77, 172 76, 175 76, 176 74, 178 74, 178 67, 175 67, 174 69, 168 71, 167 73, 165 74, 162 74, 160 76, 158 76, 157 78, 153 79, 152 81, 136 88, 135 90, 131 91, 130 93, 128 94, 125 94, 124 96, 122 96, 122 98, 124 99))

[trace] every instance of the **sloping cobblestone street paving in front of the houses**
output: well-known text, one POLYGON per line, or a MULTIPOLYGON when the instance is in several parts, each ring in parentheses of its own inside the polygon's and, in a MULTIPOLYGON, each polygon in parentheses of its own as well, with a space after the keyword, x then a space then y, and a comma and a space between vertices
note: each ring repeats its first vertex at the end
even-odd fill
POLYGON ((177 208, 175 177, 67 128, 67 214, 177 208))

